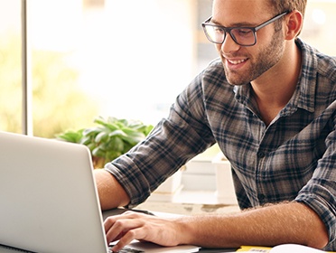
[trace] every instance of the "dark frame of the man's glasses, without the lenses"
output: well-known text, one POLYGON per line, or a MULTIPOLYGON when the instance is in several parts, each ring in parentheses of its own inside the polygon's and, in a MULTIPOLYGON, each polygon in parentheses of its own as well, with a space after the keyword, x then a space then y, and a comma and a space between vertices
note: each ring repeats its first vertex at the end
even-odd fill
POLYGON ((249 46, 254 46, 256 43, 257 43, 257 31, 260 30, 261 28, 265 27, 266 25, 270 24, 270 23, 273 23, 275 22, 276 20, 280 19, 281 17, 285 16, 285 14, 288 14, 289 12, 286 11, 282 14, 277 14, 275 15, 275 17, 267 20, 266 22, 264 23, 260 23, 258 24, 257 26, 237 26, 237 27, 225 27, 225 26, 222 26, 222 25, 219 25, 219 24, 215 24, 215 23, 209 23, 212 16, 210 16, 206 21, 204 21, 203 23, 201 23, 201 26, 203 27, 203 32, 205 33, 207 39, 212 42, 212 43, 216 43, 216 44, 222 44, 223 42, 225 42, 225 39, 227 37, 227 33, 229 33, 231 39, 236 42, 238 45, 240 46, 244 46, 244 47, 249 47, 249 46), (206 29, 206 26, 212 26, 212 27, 218 27, 219 29, 222 29, 224 31, 224 36, 223 36, 223 40, 222 42, 214 42, 211 40, 209 34, 207 33, 207 29, 206 29), (255 42, 254 43, 251 43, 251 44, 241 44, 239 42, 237 42, 235 36, 231 33, 232 30, 235 30, 235 29, 250 29, 252 32, 253 32, 253 36, 255 38, 255 42))

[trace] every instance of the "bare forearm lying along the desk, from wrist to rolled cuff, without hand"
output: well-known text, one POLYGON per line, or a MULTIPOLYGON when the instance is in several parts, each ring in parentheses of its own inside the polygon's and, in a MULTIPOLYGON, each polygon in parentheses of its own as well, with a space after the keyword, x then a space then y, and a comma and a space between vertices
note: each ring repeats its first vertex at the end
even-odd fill
POLYGON ((179 220, 182 243, 203 247, 274 246, 299 243, 322 248, 328 235, 318 215, 302 203, 282 203, 238 214, 190 217, 179 220), (186 233, 185 231, 190 231, 186 233))

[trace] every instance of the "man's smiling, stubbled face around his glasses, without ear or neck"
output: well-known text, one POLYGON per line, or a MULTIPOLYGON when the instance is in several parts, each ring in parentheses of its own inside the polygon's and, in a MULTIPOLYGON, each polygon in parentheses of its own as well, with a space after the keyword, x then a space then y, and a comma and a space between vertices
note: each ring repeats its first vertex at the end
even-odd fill
MULTIPOLYGON (((255 27, 274 15, 266 0, 214 0, 212 20, 226 27, 255 27)), ((216 47, 229 83, 244 85, 280 61, 285 40, 282 31, 275 32, 275 24, 271 23, 257 31, 254 46, 240 46, 227 34, 225 42, 216 47)))

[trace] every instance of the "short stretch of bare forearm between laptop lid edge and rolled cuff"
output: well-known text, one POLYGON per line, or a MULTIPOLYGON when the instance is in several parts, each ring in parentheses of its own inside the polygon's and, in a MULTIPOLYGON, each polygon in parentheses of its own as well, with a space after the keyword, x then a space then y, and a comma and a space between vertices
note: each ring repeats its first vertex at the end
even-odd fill
POLYGON ((111 173, 97 169, 94 171, 94 175, 102 210, 126 206, 129 203, 126 191, 111 173))

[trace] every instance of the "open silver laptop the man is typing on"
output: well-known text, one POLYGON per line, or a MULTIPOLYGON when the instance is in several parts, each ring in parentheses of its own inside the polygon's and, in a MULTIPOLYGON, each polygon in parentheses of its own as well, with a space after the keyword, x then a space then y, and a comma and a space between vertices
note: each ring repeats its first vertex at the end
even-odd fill
POLYGON ((109 252, 92 172, 85 145, 0 132, 0 252, 109 252))

